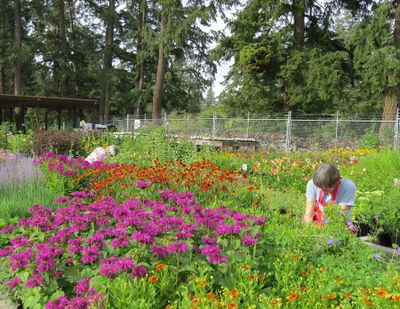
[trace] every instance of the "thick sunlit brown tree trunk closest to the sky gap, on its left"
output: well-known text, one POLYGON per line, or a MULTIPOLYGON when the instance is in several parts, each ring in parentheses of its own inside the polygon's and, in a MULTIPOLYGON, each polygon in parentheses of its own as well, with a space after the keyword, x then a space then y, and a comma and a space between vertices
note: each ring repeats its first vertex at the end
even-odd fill
POLYGON ((158 47, 158 62, 157 62, 157 75, 156 84, 154 86, 153 94, 153 113, 152 120, 153 125, 157 125, 161 119, 161 108, 164 94, 164 78, 166 71, 166 55, 165 55, 165 32, 167 28, 167 12, 163 5, 161 12, 161 22, 160 22, 160 43, 158 47))

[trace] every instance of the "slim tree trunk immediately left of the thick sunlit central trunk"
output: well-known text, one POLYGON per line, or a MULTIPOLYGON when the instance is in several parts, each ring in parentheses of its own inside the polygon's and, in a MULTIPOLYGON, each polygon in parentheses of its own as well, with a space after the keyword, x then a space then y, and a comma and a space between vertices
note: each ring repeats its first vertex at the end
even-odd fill
POLYGON ((136 117, 140 117, 142 114, 143 110, 143 88, 144 88, 144 59, 143 56, 141 57, 141 52, 144 49, 144 44, 143 44, 143 26, 146 23, 146 6, 147 6, 147 1, 143 0, 140 8, 139 8, 139 35, 138 35, 138 42, 137 42, 137 56, 138 56, 138 83, 137 83, 137 89, 138 89, 138 101, 137 101, 137 106, 136 106, 136 117))

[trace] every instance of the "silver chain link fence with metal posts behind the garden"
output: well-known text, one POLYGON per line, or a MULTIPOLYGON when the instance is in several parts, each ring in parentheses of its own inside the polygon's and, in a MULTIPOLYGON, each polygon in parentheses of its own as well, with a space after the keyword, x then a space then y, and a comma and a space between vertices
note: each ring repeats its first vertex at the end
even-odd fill
MULTIPOLYGON (((294 117, 289 112, 279 117, 199 118, 193 115, 168 117, 156 122, 168 134, 187 138, 232 139, 259 142, 263 149, 278 151, 325 150, 332 147, 392 147, 400 145, 399 110, 393 120, 345 119, 330 117, 294 117)), ((116 131, 132 132, 152 127, 152 119, 131 115, 114 117, 116 131)))

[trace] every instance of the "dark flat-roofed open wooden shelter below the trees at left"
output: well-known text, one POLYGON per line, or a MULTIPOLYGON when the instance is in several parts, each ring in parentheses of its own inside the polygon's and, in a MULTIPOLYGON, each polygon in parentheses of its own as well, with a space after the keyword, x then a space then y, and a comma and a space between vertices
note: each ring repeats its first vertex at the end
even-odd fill
POLYGON ((48 128, 48 112, 57 112, 58 129, 61 129, 61 111, 72 111, 73 127, 78 127, 78 113, 83 110, 91 113, 94 126, 98 103, 96 100, 60 98, 60 97, 35 97, 0 94, 0 124, 3 121, 13 121, 13 110, 20 108, 19 119, 15 119, 17 131, 25 131, 24 115, 28 108, 35 109, 36 127, 39 127, 39 109, 45 109, 45 130, 48 128))

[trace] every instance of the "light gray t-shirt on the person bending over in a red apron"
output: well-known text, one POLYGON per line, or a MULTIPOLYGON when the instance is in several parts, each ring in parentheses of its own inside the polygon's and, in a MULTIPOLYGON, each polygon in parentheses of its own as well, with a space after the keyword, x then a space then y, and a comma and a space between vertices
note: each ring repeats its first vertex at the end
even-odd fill
MULTIPOLYGON (((318 201, 320 191, 321 189, 314 184, 312 179, 307 183, 307 191, 306 191, 307 199, 318 201)), ((326 192, 323 193, 322 196, 323 203, 328 203, 331 201, 331 199, 332 199, 331 195, 329 195, 326 192)), ((340 182, 339 189, 336 194, 335 203, 341 205, 354 206, 355 199, 356 199, 356 185, 350 179, 342 177, 342 181, 340 182)))

